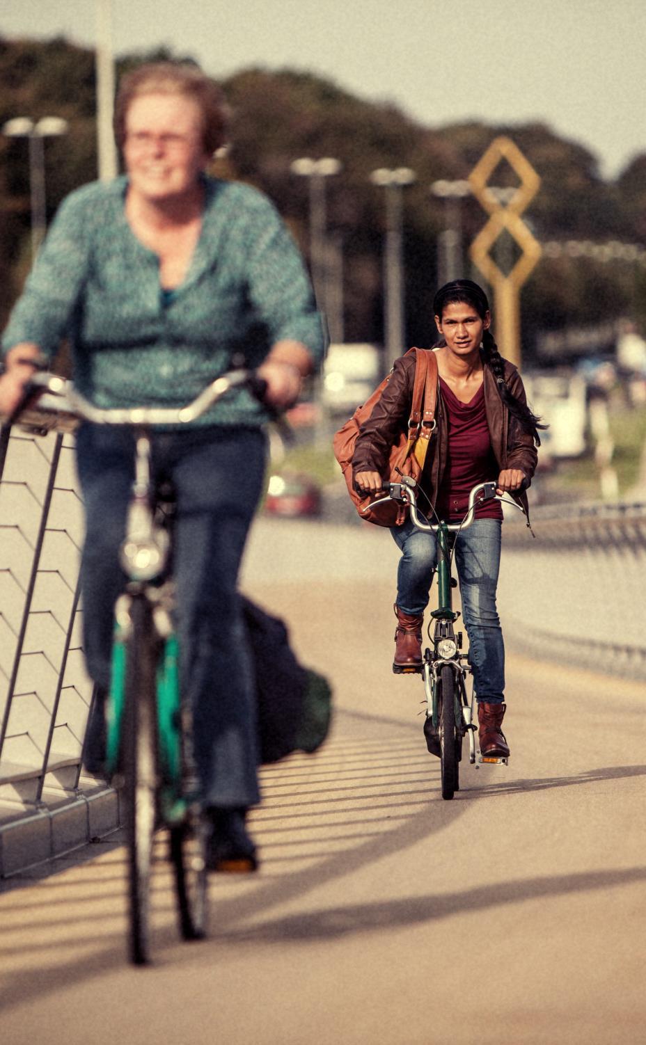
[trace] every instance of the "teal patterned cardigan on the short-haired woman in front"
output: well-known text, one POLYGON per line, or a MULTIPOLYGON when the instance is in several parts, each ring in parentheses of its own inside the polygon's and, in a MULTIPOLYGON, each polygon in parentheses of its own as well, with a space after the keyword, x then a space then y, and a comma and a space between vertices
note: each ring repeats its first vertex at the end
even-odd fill
MULTIPOLYGON (((181 407, 231 366, 255 367, 295 340, 320 364, 324 338, 300 254, 270 201, 205 179, 202 232, 184 282, 163 294, 159 258, 133 234, 128 179, 94 182, 61 205, 2 336, 46 356, 69 339, 73 379, 98 407, 181 407)), ((197 423, 251 424, 239 391, 197 423)))

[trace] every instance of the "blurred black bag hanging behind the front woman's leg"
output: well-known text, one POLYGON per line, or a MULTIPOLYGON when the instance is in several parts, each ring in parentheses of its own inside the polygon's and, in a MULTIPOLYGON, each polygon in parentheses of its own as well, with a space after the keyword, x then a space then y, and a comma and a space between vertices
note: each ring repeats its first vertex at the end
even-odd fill
POLYGON ((330 686, 324 675, 299 664, 283 621, 245 596, 240 600, 256 683, 260 761, 312 753, 329 730, 330 686))

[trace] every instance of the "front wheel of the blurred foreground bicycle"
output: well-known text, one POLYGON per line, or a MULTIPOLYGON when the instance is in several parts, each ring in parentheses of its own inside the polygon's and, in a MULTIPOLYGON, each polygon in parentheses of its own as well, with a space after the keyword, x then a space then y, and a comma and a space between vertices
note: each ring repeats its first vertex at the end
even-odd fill
POLYGON ((156 669, 158 643, 144 596, 131 605, 125 667, 123 791, 129 847, 130 954, 148 960, 153 835, 157 793, 156 669))

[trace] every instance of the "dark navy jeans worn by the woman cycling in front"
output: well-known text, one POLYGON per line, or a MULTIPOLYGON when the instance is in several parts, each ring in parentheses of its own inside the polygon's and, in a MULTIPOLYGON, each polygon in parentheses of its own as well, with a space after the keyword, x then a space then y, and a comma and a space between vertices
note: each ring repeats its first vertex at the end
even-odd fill
MULTIPOLYGON (((119 547, 134 478, 128 429, 84 424, 76 461, 86 509, 84 649, 90 677, 110 684, 113 612, 123 589, 119 547)), ((177 495, 174 574, 182 692, 207 806, 259 800, 253 675, 237 598, 247 533, 260 496, 266 441, 254 428, 156 432, 155 477, 177 495)))

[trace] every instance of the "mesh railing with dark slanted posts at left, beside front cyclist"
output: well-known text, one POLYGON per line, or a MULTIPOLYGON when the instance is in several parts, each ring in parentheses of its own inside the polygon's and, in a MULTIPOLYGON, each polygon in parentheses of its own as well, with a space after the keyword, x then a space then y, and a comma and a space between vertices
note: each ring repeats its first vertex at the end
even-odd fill
POLYGON ((0 467, 0 804, 10 815, 77 788, 93 687, 79 637, 72 437, 4 428, 0 467))

